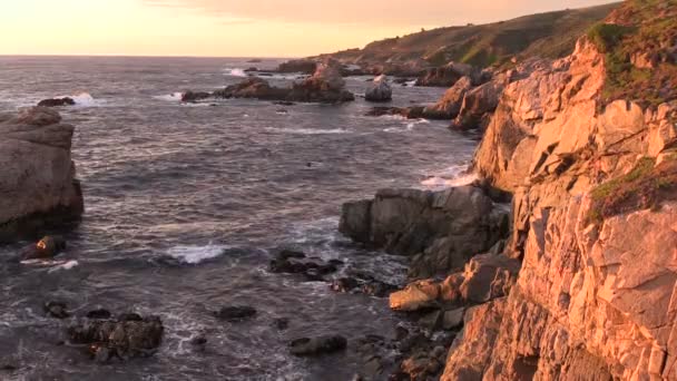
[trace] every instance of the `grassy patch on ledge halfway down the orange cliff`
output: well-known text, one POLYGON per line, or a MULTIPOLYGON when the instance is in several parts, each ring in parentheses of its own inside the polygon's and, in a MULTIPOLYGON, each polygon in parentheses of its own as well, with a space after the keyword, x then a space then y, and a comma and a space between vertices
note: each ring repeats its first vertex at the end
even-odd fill
POLYGON ((589 221, 601 222, 622 213, 657 209, 665 201, 677 199, 677 155, 667 156, 658 166, 653 158, 639 160, 627 175, 595 188, 589 221))

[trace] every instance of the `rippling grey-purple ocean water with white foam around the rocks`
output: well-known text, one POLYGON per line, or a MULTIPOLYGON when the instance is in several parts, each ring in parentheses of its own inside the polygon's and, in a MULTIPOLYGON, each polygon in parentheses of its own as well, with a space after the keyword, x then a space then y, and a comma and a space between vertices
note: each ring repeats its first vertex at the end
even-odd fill
MULTIPOLYGON (((337 233, 344 202, 384 187, 439 188, 468 165, 477 141, 444 123, 365 117, 346 105, 278 106, 258 100, 181 105, 177 92, 237 82, 243 69, 279 61, 243 59, 0 57, 0 111, 73 96, 61 109, 77 127, 73 159, 86 214, 65 233, 52 263, 0 261, 0 379, 17 380, 349 380, 354 342, 389 336, 400 318, 384 299, 336 294, 327 283, 267 272, 282 248, 340 258, 403 282, 405 262, 366 252, 337 233), (166 335, 149 359, 100 365, 62 345, 69 321, 102 306, 161 316, 166 335), (255 319, 215 320, 210 311, 251 305, 255 319), (290 319, 290 329, 274 326, 290 319), (298 359, 287 343, 342 334, 345 353, 298 359), (188 341, 209 339, 204 353, 188 341)), ((295 75, 276 76, 277 85, 295 75)), ((349 79, 363 94, 366 78, 349 79)), ((393 105, 432 102, 443 89, 394 86, 393 105)), ((0 246, 10 257, 20 243, 0 246)), ((337 274, 338 276, 340 274, 337 274)))

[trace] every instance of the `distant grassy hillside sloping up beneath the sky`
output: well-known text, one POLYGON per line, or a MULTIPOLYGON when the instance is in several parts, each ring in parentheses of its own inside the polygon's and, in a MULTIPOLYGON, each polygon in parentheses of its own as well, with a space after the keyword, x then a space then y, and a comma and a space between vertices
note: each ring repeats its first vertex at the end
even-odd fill
POLYGON ((560 58, 571 53, 576 40, 619 6, 616 2, 481 26, 439 28, 321 57, 366 66, 408 61, 442 66, 455 61, 479 67, 501 63, 514 56, 560 58))

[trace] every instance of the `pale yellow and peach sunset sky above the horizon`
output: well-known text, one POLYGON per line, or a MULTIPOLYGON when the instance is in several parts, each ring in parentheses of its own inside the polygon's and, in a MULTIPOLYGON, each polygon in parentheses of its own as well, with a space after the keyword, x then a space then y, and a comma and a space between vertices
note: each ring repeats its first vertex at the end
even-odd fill
POLYGON ((304 57, 610 0, 0 0, 0 55, 304 57))

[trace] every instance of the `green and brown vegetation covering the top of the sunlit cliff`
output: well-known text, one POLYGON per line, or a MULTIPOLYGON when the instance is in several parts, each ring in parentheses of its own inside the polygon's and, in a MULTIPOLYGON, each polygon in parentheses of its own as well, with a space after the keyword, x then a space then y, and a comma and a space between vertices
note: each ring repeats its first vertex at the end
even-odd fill
POLYGON ((677 0, 626 1, 588 38, 606 55, 606 102, 677 99, 677 0))

